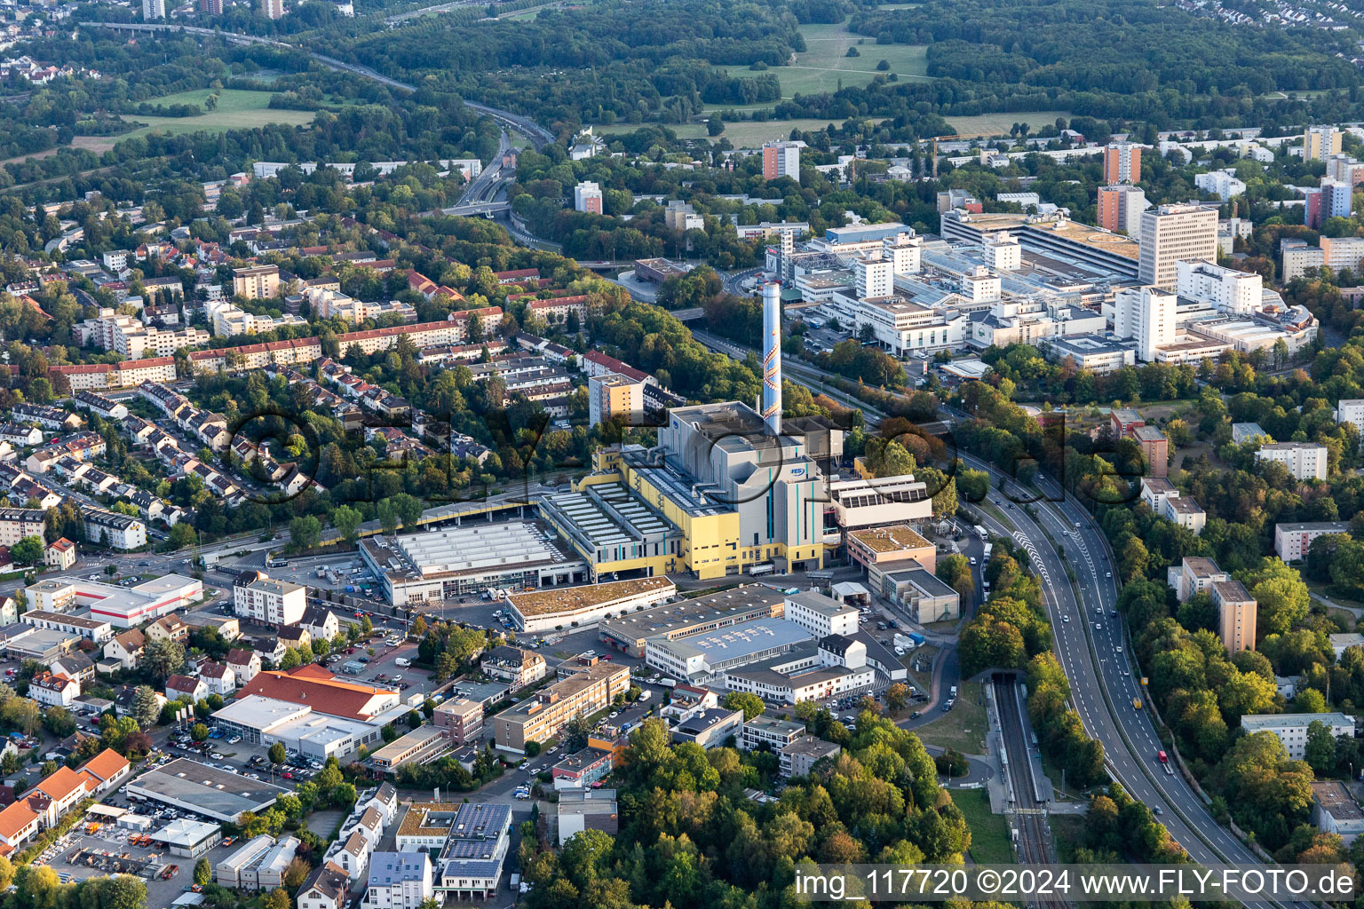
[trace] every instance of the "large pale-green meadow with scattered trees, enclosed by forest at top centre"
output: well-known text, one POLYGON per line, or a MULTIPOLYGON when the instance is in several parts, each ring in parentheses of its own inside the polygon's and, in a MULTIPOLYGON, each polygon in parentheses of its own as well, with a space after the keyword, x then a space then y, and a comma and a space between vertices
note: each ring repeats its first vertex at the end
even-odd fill
POLYGON ((795 55, 790 67, 772 67, 754 72, 747 67, 724 67, 734 76, 757 76, 768 72, 782 82, 782 97, 797 94, 818 94, 837 91, 844 86, 870 84, 877 75, 896 74, 900 79, 928 79, 928 48, 925 45, 889 44, 877 45, 866 35, 853 34, 846 23, 801 26, 805 35, 805 52, 795 55), (858 45, 858 41, 865 44, 858 45), (858 46, 862 56, 847 56, 848 48, 858 46), (885 60, 891 68, 877 72, 876 64, 885 60))

